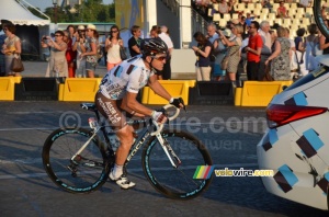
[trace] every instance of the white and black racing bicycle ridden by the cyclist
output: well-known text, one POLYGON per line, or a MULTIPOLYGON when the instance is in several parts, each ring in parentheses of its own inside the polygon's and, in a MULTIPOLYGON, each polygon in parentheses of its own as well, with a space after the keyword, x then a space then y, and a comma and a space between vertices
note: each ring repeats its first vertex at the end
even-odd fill
MULTIPOLYGON (((42 158, 50 180, 70 193, 90 193, 100 189, 109 179, 114 164, 115 148, 109 138, 106 121, 101 121, 93 103, 81 107, 92 111, 90 128, 58 128, 46 139, 42 158)), ((180 113, 173 105, 163 106, 171 113, 169 122, 180 113)), ((139 127, 124 168, 140 147, 141 167, 148 182, 161 194, 174 199, 198 196, 211 184, 213 174, 195 178, 198 165, 213 165, 206 147, 195 136, 178 129, 163 128, 150 118, 128 121, 139 127)), ((113 134, 113 132, 112 132, 113 134)), ((126 172, 126 169, 125 169, 126 172)))

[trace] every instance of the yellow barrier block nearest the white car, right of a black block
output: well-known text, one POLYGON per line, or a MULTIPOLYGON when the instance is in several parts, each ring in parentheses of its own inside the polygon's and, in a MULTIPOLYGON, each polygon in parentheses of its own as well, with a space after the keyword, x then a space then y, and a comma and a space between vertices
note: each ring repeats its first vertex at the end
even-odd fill
POLYGON ((235 105, 266 106, 272 98, 293 81, 245 81, 243 88, 236 89, 235 105))

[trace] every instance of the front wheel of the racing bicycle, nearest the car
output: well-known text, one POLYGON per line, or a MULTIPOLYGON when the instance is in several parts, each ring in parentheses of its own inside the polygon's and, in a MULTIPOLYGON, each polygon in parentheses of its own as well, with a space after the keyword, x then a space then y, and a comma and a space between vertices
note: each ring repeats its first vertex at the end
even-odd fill
POLYGON ((198 196, 209 186, 214 176, 193 179, 198 165, 213 164, 209 152, 201 140, 186 132, 166 129, 161 135, 182 163, 173 168, 158 139, 151 137, 141 156, 144 173, 149 183, 169 198, 190 199, 198 196))

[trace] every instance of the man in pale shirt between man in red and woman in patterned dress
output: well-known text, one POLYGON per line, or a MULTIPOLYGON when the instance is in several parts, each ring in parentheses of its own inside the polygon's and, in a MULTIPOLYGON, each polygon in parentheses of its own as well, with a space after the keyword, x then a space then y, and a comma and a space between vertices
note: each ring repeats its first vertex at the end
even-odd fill
POLYGON ((258 34, 261 36, 263 46, 261 52, 261 60, 259 66, 259 72, 258 72, 258 80, 262 80, 265 72, 265 61, 269 58, 269 56, 272 54, 272 37, 270 33, 270 23, 269 21, 262 21, 260 23, 260 30, 258 31, 258 34))

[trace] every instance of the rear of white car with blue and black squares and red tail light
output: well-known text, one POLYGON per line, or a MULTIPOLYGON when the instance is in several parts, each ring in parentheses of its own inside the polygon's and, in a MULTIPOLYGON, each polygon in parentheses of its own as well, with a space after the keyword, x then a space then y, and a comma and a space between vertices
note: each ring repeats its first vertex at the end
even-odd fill
MULTIPOLYGON (((327 59, 320 59, 327 66, 327 59)), ((257 146, 265 189, 277 196, 328 209, 329 67, 320 67, 275 95, 257 146)))

